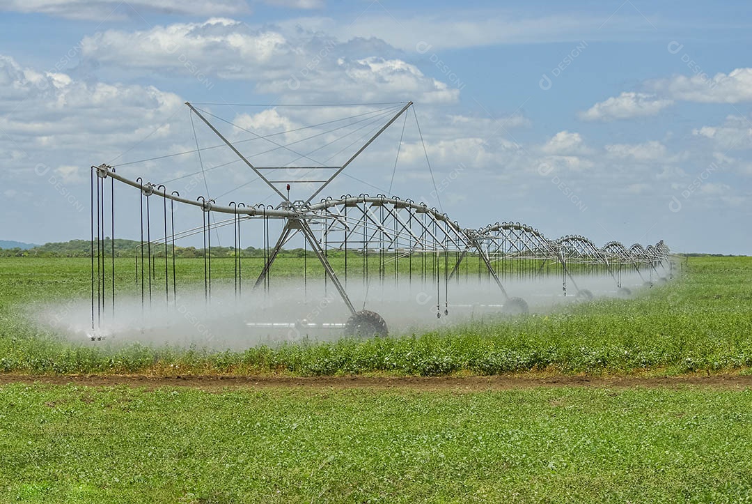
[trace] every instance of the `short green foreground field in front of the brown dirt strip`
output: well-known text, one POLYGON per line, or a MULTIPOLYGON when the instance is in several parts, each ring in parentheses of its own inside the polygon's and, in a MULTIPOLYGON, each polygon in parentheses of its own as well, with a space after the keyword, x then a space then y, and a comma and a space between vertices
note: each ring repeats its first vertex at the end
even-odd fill
POLYGON ((752 391, 0 387, 0 502, 750 502, 752 391))

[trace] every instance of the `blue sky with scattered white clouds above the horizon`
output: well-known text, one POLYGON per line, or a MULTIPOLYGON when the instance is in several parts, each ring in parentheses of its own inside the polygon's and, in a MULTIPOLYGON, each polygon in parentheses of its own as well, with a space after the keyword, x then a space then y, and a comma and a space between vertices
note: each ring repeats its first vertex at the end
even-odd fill
MULTIPOLYGON (((391 184, 468 228, 523 221, 600 245, 750 253, 752 5, 500 3, 0 2, 0 238, 86 237, 89 166, 195 148, 186 100, 409 99, 438 194, 410 115, 393 180, 399 124, 328 195, 391 184)), ((259 133, 344 114, 207 110, 259 133)), ((216 142, 200 127, 196 139, 216 142)), ((121 170, 163 182, 198 163, 121 170)), ((216 197, 248 180, 214 170, 201 187, 216 197)), ((268 195, 256 184, 232 193, 268 195)))

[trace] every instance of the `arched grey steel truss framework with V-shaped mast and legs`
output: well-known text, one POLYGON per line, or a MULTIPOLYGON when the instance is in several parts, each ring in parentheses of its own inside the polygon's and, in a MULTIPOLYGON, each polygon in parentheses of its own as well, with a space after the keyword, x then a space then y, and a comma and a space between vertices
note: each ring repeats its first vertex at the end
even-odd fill
MULTIPOLYGON (((226 143, 238 157, 247 164, 263 182, 272 188, 282 199, 280 205, 247 206, 244 203, 230 202, 226 206, 217 204, 214 200, 199 197, 196 200, 180 197, 177 191, 169 191, 164 185, 153 185, 139 178, 127 179, 116 173, 112 166, 102 164, 92 166, 92 330, 102 322, 105 310, 115 310, 114 283, 114 181, 140 191, 141 197, 141 245, 135 252, 135 279, 141 289, 142 303, 151 298, 152 291, 159 289, 156 285, 156 268, 158 259, 155 251, 162 247, 163 257, 159 261, 159 270, 164 271, 164 277, 159 279, 165 288, 165 296, 169 301, 177 292, 175 277, 174 243, 176 239, 203 234, 205 258, 205 295, 211 297, 211 233, 215 228, 232 226, 235 235, 235 292, 242 288, 242 260, 241 228, 247 221, 261 221, 265 232, 268 232, 268 221, 277 219, 284 225, 280 236, 274 245, 265 235, 265 258, 261 273, 256 279, 254 289, 268 287, 268 281, 274 261, 280 251, 296 235, 302 235, 305 243, 323 266, 326 281, 331 283, 338 292, 347 309, 351 313, 348 330, 356 333, 386 334, 386 324, 375 313, 359 311, 350 300, 347 292, 348 272, 350 277, 355 270, 362 279, 378 274, 382 281, 390 276, 395 283, 399 283, 400 276, 408 276, 403 281, 411 281, 414 268, 422 280, 435 283, 437 289, 436 314, 448 314, 449 304, 447 291, 451 283, 464 274, 468 276, 472 269, 473 275, 485 277, 495 283, 503 302, 503 310, 507 313, 526 313, 526 302, 521 298, 511 297, 505 289, 505 281, 510 278, 532 278, 550 274, 562 277, 562 290, 567 295, 568 284, 577 296, 590 298, 587 289, 579 289, 575 282, 575 274, 608 275, 614 279, 617 292, 629 294, 629 290, 621 285, 622 273, 636 271, 643 279, 644 273, 653 278, 665 279, 671 274, 670 251, 663 241, 655 245, 643 247, 634 244, 629 249, 622 243, 612 241, 605 246, 597 247, 586 237, 566 235, 557 240, 544 237, 537 229, 520 222, 496 222, 483 228, 462 228, 457 221, 453 221, 438 209, 429 208, 425 203, 402 199, 396 196, 377 194, 359 194, 358 196, 344 195, 339 198, 327 197, 318 203, 312 203, 326 185, 329 185, 347 165, 349 165, 371 142, 376 139, 390 124, 412 105, 408 102, 404 108, 381 130, 368 139, 346 163, 341 166, 327 166, 334 170, 329 179, 320 182, 310 197, 306 200, 291 201, 284 192, 280 191, 274 182, 265 178, 262 171, 230 143, 202 114, 190 103, 186 103, 208 127, 226 143), (105 194, 105 181, 110 179, 110 193, 105 194), (109 196, 107 198, 107 196, 109 196), (164 225, 156 233, 162 236, 153 240, 151 237, 151 206, 150 200, 159 200, 155 214, 162 210, 164 225), (106 212, 105 200, 110 203, 111 211, 106 212), (176 232, 172 211, 174 205, 183 204, 195 206, 201 210, 202 226, 191 230, 176 232), (161 207, 161 208, 160 208, 161 207), (168 209, 169 207, 169 209, 168 209), (226 215, 212 221, 210 216, 226 215), (105 227, 110 218, 110 231, 113 235, 111 246, 105 249, 105 227), (145 219, 144 219, 145 218, 145 219), (145 222, 145 226, 144 226, 145 222), (144 234, 145 231, 145 234, 144 234), (207 253, 209 251, 210 253, 207 253), (329 257, 332 254, 344 256, 344 272, 335 271, 329 257), (378 267, 369 271, 375 258, 378 267), (348 267, 347 261, 350 261, 348 267), (402 261, 402 266, 400 265, 402 261), (405 262, 408 263, 405 273, 405 262), (108 264, 109 263, 109 264, 108 264), (353 264, 354 263, 354 264, 353 264), (472 265, 471 265, 472 264, 472 265), (105 274, 110 267, 109 276, 105 274), (659 273, 658 268, 663 268, 659 273), (171 274, 170 274, 171 271, 171 274), (441 288, 444 288, 444 306, 441 306, 441 288), (442 310, 443 308, 443 310, 442 310), (378 323, 368 317, 378 317, 378 323), (364 319, 365 317, 365 319, 364 319)), ((274 170, 274 167, 269 168, 274 170)), ((289 187, 289 186, 288 186, 289 187)))

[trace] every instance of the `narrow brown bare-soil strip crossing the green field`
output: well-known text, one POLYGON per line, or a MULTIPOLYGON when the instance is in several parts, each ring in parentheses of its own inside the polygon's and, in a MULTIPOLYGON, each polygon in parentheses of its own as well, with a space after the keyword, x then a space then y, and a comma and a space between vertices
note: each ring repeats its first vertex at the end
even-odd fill
POLYGON ((9 383, 47 383, 52 385, 134 386, 156 389, 164 386, 188 386, 218 391, 221 389, 414 389, 426 391, 482 392, 486 390, 531 389, 536 387, 586 388, 667 388, 708 387, 714 389, 752 389, 752 375, 713 374, 677 377, 590 377, 571 375, 502 375, 472 377, 282 377, 282 376, 145 376, 145 375, 69 375, 44 376, 0 374, 0 386, 9 383))

